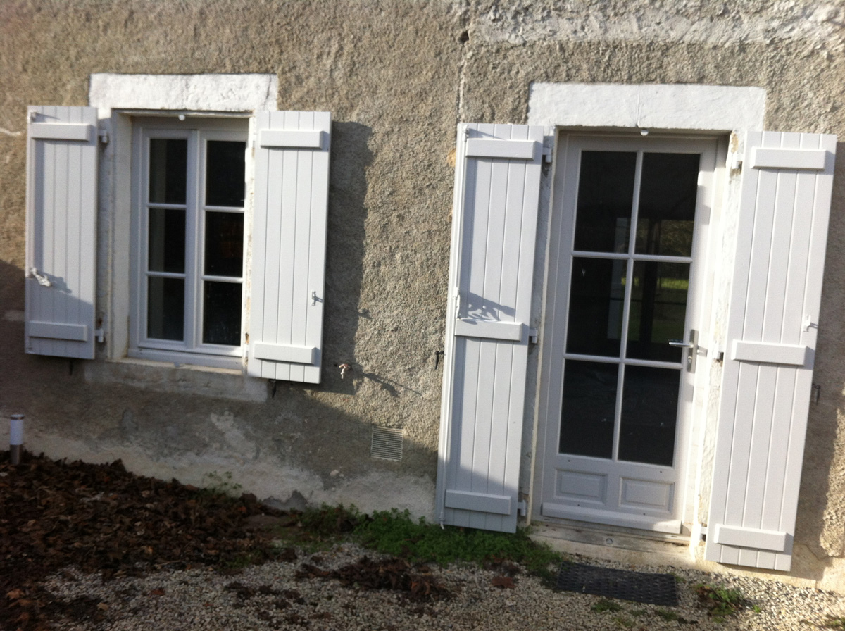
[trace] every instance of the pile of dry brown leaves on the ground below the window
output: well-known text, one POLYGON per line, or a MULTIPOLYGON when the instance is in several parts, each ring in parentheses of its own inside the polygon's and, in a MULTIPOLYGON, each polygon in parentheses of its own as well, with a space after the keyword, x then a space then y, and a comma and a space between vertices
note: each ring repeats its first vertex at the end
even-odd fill
POLYGON ((57 607, 76 619, 100 619, 100 603, 57 602, 39 588, 67 566, 109 579, 275 556, 247 522, 272 512, 254 496, 226 498, 134 476, 120 461, 68 464, 24 454, 13 466, 0 454, 0 625, 46 629, 57 607))

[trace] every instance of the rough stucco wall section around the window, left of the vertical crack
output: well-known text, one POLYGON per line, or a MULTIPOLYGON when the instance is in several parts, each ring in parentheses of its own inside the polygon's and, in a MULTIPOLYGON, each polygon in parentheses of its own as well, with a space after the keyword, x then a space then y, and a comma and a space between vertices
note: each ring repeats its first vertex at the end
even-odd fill
POLYGON ((25 411, 30 444, 57 455, 430 513, 457 19, 401 1, 0 2, 0 413, 25 411), (87 105, 100 72, 275 73, 280 109, 332 112, 322 385, 279 383, 274 397, 258 382, 264 400, 249 403, 215 373, 138 369, 146 388, 131 372, 102 385, 96 366, 70 374, 67 360, 24 354, 25 107, 87 105), (199 395, 226 389, 234 399, 199 395), (401 464, 369 457, 373 424, 406 429, 401 464))

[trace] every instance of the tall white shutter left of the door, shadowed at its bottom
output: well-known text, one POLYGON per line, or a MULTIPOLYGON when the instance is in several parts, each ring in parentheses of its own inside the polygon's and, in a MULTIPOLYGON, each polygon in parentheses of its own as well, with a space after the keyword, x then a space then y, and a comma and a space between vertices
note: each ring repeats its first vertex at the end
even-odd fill
POLYGON ((437 510, 516 530, 541 127, 461 125, 437 510))

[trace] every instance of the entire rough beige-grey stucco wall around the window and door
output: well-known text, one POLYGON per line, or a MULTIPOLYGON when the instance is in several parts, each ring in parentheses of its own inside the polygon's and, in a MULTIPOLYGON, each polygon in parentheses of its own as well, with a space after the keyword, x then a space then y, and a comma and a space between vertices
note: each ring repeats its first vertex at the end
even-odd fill
MULTIPOLYGON (((0 415, 25 412, 30 448, 52 455, 429 514, 456 122, 525 122, 532 82, 694 83, 764 88, 767 128, 845 134, 838 3, 558 5, 0 0, 0 415), (25 355, 25 106, 86 105, 90 73, 275 73, 280 109, 332 112, 320 386, 271 396, 218 373, 25 355), (401 463, 369 457, 372 424, 405 428, 401 463)), ((808 576, 845 547, 839 146, 796 535, 820 558, 808 576)))

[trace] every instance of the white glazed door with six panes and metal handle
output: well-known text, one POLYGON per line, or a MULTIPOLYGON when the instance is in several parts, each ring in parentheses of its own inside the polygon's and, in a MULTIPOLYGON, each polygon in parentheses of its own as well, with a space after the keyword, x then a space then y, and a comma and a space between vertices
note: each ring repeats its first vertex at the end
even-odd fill
POLYGON ((540 512, 679 532, 695 367, 682 346, 698 326, 696 254, 716 141, 562 140, 543 335, 540 512))

